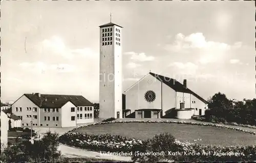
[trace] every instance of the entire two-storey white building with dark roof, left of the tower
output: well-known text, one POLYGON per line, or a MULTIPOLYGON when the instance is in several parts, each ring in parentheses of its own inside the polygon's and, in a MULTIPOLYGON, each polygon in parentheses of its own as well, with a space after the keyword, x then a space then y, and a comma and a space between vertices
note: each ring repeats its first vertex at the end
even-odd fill
POLYGON ((12 104, 22 127, 74 127, 94 122, 94 105, 83 96, 24 94, 12 104))

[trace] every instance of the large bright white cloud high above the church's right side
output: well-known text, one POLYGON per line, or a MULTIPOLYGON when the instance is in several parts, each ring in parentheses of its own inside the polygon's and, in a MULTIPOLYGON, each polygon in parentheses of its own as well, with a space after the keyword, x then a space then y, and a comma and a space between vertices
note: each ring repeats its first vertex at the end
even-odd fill
POLYGON ((209 41, 202 33, 193 33, 184 36, 179 33, 175 36, 175 40, 163 46, 163 48, 172 53, 185 53, 188 58, 197 58, 200 64, 209 64, 223 62, 223 58, 227 56, 230 50, 243 47, 242 42, 236 42, 229 45, 223 42, 209 41))

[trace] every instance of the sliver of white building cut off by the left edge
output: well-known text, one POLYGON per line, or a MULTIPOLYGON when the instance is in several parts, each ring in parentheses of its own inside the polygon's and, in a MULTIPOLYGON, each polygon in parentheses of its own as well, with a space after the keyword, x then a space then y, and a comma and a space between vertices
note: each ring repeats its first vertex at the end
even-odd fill
POLYGON ((8 145, 9 118, 1 111, 1 151, 8 145))

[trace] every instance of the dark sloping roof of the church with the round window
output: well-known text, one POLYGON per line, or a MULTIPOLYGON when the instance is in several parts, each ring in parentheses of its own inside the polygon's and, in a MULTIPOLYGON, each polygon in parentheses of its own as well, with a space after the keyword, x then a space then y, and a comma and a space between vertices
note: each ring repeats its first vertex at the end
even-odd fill
POLYGON ((199 100, 201 100, 204 103, 208 103, 205 99, 203 99, 202 97, 200 97, 198 94, 196 94, 195 92, 191 91, 188 88, 185 88, 183 86, 183 84, 179 83, 176 79, 173 78, 169 78, 166 76, 162 76, 159 74, 155 74, 150 72, 150 74, 152 76, 154 76, 155 78, 157 78, 160 82, 163 82, 164 84, 166 84, 167 86, 169 86, 170 88, 174 89, 176 92, 184 92, 184 93, 190 93, 193 94, 196 98, 198 98, 199 100))

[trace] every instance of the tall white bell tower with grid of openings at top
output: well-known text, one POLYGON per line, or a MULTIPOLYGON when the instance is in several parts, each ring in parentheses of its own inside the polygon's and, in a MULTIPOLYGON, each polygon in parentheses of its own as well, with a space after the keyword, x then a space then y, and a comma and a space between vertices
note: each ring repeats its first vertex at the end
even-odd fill
POLYGON ((122 27, 100 25, 99 118, 122 118, 122 27))

